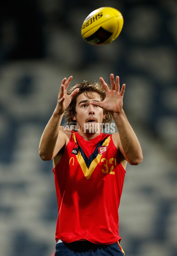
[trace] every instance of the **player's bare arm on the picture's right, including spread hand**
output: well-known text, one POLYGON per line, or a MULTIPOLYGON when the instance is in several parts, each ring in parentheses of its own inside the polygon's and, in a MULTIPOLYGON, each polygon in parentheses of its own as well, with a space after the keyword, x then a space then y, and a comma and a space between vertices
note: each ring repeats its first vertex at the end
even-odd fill
POLYGON ((91 104, 97 105, 112 114, 119 131, 118 134, 112 135, 114 144, 119 148, 124 159, 126 159, 130 164, 139 164, 142 161, 140 143, 122 109, 125 84, 122 85, 122 89, 120 91, 119 76, 116 76, 116 81, 114 81, 114 75, 111 74, 110 80, 111 90, 104 79, 100 77, 101 84, 106 92, 106 98, 99 103, 92 101, 91 104))

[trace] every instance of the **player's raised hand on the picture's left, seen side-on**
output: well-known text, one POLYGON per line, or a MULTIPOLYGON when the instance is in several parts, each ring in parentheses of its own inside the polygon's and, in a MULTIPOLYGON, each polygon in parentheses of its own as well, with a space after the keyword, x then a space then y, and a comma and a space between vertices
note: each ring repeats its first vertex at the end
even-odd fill
POLYGON ((62 115, 65 109, 71 103, 72 98, 78 93, 79 89, 76 88, 70 95, 67 95, 67 88, 70 84, 73 76, 70 76, 68 79, 64 78, 61 82, 60 92, 58 94, 58 103, 55 108, 55 111, 58 112, 59 115, 62 115))

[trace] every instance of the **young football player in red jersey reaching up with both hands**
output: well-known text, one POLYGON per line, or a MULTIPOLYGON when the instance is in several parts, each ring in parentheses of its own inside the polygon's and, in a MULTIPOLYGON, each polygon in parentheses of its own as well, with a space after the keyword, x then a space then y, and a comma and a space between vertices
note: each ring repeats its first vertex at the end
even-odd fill
POLYGON ((58 103, 40 140, 42 160, 53 159, 58 200, 55 256, 124 255, 119 245, 118 207, 127 162, 142 161, 140 143, 124 111, 119 77, 111 89, 83 81, 69 90, 63 79, 58 103), (65 114, 76 130, 60 126, 65 114), (118 133, 101 129, 112 117, 118 133))

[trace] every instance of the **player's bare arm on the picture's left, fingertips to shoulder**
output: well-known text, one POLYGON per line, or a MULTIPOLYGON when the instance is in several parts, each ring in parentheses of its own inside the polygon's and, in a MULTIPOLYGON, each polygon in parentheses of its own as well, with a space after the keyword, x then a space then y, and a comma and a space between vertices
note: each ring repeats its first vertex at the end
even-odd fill
POLYGON ((68 140, 68 136, 62 131, 60 124, 65 109, 79 90, 77 88, 71 95, 67 95, 67 88, 71 79, 72 76, 70 76, 68 80, 66 78, 63 79, 58 94, 57 106, 42 134, 39 145, 39 155, 42 160, 53 159, 68 140))

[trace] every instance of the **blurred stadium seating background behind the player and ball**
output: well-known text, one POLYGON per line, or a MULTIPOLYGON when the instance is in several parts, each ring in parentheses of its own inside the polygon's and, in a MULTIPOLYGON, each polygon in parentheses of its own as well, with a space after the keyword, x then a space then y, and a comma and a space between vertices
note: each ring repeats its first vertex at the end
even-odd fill
MULTIPOLYGON (((61 81, 110 73, 126 84, 124 110, 144 154, 127 166, 119 207, 127 256, 177 255, 177 1, 3 1, 0 21, 0 255, 49 256, 57 200, 40 137, 61 81), (124 17, 119 37, 92 46, 85 17, 102 6, 124 17)), ((109 191, 108 191, 109 193, 109 191)))

